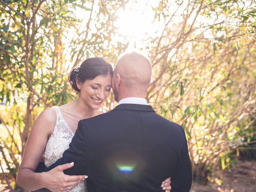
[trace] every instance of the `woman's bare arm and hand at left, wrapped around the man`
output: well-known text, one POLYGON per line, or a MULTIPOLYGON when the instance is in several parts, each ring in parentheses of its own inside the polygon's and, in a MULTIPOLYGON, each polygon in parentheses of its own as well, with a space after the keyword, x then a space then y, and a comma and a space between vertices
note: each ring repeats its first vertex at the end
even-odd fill
POLYGON ((54 130, 56 118, 55 109, 48 108, 34 122, 16 178, 17 183, 23 188, 32 191, 48 188, 57 192, 68 190, 69 186, 74 188, 85 178, 85 176, 68 176, 63 173, 64 169, 72 167, 73 164, 58 166, 49 172, 34 172, 42 158, 47 140, 54 130))

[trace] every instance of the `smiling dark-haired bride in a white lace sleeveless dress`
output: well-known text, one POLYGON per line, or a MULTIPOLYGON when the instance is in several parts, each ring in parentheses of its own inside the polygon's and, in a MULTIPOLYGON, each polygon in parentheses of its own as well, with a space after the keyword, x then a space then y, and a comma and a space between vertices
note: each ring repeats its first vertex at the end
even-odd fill
MULTIPOLYGON (((113 69, 103 58, 86 59, 69 75, 72 89, 78 92, 78 99, 62 106, 45 109, 31 129, 16 181, 28 190, 47 188, 53 192, 86 192, 87 176, 69 176, 63 170, 74 164, 57 166, 49 172, 36 173, 42 158, 50 166, 62 157, 68 149, 78 121, 102 114, 101 104, 111 90, 113 69)), ((162 189, 170 192, 170 178, 162 183, 162 189)))

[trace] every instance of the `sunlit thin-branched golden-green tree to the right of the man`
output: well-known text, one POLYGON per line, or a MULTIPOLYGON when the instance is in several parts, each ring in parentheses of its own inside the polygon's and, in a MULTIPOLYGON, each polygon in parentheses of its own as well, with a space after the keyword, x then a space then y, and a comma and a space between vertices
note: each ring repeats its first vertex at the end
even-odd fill
POLYGON ((154 81, 147 99, 185 129, 195 180, 206 182, 255 121, 254 6, 160 1, 155 10, 165 27, 149 43, 154 81))

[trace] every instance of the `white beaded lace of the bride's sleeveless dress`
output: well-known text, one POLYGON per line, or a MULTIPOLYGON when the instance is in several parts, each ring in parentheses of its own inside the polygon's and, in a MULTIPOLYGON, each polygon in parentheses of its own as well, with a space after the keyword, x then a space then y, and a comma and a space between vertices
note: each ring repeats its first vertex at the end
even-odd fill
MULTIPOLYGON (((69 144, 74 136, 72 130, 64 120, 60 108, 53 106, 56 110, 57 120, 54 130, 49 137, 43 154, 44 164, 49 167, 62 157, 63 152, 69 148, 69 144)), ((86 181, 80 182, 70 192, 87 192, 86 181)))

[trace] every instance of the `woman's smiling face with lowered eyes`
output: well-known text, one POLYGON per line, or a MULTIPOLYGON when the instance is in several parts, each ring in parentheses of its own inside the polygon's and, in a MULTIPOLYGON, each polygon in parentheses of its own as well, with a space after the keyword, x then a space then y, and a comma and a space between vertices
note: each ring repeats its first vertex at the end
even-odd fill
POLYGON ((93 80, 78 82, 80 86, 80 95, 84 103, 94 110, 98 110, 108 98, 111 90, 112 76, 108 73, 106 76, 96 76, 93 80))

